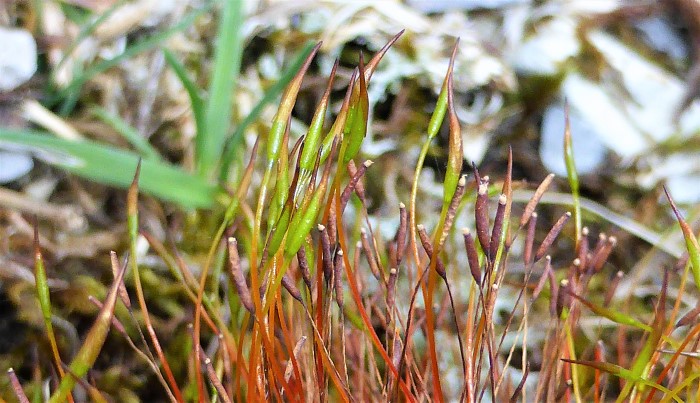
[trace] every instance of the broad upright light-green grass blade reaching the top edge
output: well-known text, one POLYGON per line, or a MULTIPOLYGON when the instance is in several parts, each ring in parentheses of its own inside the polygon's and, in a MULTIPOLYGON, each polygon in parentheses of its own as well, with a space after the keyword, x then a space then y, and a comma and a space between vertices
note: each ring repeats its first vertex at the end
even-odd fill
POLYGON ((222 156, 222 147, 231 125, 231 99, 236 88, 243 55, 243 2, 223 1, 216 33, 214 66, 209 83, 204 131, 197 132, 197 173, 214 177, 214 168, 222 156))

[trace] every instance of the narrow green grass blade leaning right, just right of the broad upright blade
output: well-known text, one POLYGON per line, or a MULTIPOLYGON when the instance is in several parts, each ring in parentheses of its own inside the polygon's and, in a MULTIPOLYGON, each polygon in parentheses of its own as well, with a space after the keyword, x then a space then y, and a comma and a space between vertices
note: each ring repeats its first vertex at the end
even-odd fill
POLYGON ((313 49, 315 42, 307 42, 304 47, 294 56, 292 63, 287 66, 279 80, 275 82, 270 88, 265 91, 262 99, 253 107, 248 116, 246 116, 241 123, 236 126, 235 131, 226 140, 226 145, 224 148, 224 154, 221 159, 221 171, 219 173, 219 180, 221 183, 226 183, 228 181, 228 171, 231 167, 231 163, 238 152, 238 146, 243 141, 243 132, 255 122, 263 111, 263 108, 267 106, 270 102, 277 99, 277 97, 282 93, 285 87, 294 78, 296 73, 299 71, 301 66, 311 50, 313 49))

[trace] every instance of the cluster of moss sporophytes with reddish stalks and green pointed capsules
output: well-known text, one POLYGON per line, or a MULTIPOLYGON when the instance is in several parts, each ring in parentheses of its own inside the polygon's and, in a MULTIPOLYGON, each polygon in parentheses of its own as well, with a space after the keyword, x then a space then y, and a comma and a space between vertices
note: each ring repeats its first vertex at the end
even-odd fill
MULTIPOLYGON (((673 206, 688 254, 675 271, 663 271, 647 323, 611 308, 615 280, 604 295, 590 290, 607 281, 604 268, 616 239, 600 234, 591 242, 582 225, 568 129, 564 158, 572 212, 560 212, 549 228, 538 230, 537 210, 553 176, 520 205, 514 203, 510 153, 501 180, 476 166, 463 167, 452 63, 415 162, 410 200, 397 206, 395 235, 384 239, 373 228, 362 180, 372 161, 359 158, 369 124, 367 86, 397 38, 366 64, 360 55, 340 111, 327 122, 334 67, 308 132, 291 144, 292 110, 319 46, 306 57, 269 133, 258 139, 230 187, 223 220, 198 271, 174 246, 140 227, 139 163, 126 201, 129 258, 120 263, 112 254, 114 282, 104 298, 91 299, 99 314, 72 357, 57 343, 36 237, 36 293, 55 370, 51 402, 80 400, 78 394, 85 393, 107 401, 99 377, 85 378, 106 353, 110 331, 123 336, 163 396, 176 402, 692 399, 700 372, 683 355, 700 333, 700 309, 677 319, 689 273, 700 284, 700 248, 689 225, 673 206), (444 120, 449 149, 437 213, 418 200, 419 178, 444 120), (345 221, 350 210, 352 223, 345 221), (419 223, 419 217, 433 214, 439 214, 434 228, 419 223), (456 229, 459 215, 467 215, 473 228, 456 229), (563 233, 573 234, 573 247, 553 259, 553 245, 563 233), (176 355, 161 343, 163 332, 158 334, 149 314, 138 261, 144 241, 168 266, 191 307, 188 342, 175 348, 176 355), (515 245, 520 253, 511 253, 515 245), (667 309, 671 281, 679 285, 667 309), (497 308, 504 299, 511 304, 505 314, 497 308), (620 340, 641 341, 619 343, 616 354, 606 351, 610 343, 600 339, 614 333, 606 325, 589 337, 582 318, 591 313, 614 323, 620 340), (544 333, 534 345, 528 338, 532 328, 544 333), (182 357, 185 365, 173 362, 182 357), (456 378, 445 375, 450 362, 460 367, 456 378)), ((28 401, 12 370, 10 378, 17 398, 28 401)))

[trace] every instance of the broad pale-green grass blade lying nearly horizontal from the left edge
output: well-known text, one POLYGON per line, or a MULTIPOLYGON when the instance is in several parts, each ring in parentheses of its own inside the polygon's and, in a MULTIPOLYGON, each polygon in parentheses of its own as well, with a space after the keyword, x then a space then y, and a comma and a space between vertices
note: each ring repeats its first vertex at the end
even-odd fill
MULTIPOLYGON (((37 158, 71 173, 105 185, 127 188, 139 160, 133 152, 89 140, 67 141, 49 134, 0 128, 0 147, 26 149, 37 158)), ((141 188, 145 193, 185 208, 214 204, 216 187, 160 161, 144 160, 141 188)))

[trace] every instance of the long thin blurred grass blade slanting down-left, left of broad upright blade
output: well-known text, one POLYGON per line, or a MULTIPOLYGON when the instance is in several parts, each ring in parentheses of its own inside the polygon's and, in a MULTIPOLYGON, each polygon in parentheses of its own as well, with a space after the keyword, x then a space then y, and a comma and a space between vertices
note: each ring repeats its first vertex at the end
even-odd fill
POLYGON ((58 93, 56 94, 56 101, 65 100, 71 97, 71 100, 69 100, 69 102, 65 102, 61 106, 60 113, 62 115, 66 115, 73 109, 73 107, 75 106, 75 102, 77 102, 77 94, 80 92, 80 89, 82 88, 83 84, 85 84, 87 81, 89 81, 96 75, 102 73, 103 71, 117 66, 124 60, 134 57, 139 53, 155 49, 156 47, 162 45, 166 39, 192 25, 197 19, 197 17, 209 11, 211 7, 212 4, 208 3, 204 7, 194 10, 189 14, 185 15, 180 20, 180 22, 173 25, 172 27, 150 35, 128 46, 126 49, 124 49, 124 52, 122 52, 121 54, 109 60, 103 60, 99 63, 96 63, 93 66, 87 68, 85 71, 81 72, 79 75, 73 78, 73 81, 71 81, 70 84, 58 91, 58 93))

